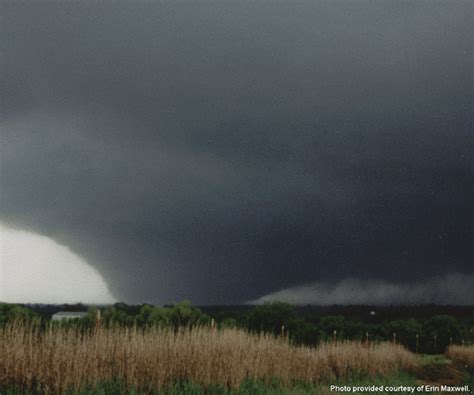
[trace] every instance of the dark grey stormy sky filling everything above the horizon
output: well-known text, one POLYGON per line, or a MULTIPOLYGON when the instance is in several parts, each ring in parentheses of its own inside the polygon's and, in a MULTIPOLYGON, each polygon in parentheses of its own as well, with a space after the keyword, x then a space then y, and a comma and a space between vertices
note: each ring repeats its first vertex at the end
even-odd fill
POLYGON ((471 1, 1 13, 0 221, 78 298, 474 304, 471 1))

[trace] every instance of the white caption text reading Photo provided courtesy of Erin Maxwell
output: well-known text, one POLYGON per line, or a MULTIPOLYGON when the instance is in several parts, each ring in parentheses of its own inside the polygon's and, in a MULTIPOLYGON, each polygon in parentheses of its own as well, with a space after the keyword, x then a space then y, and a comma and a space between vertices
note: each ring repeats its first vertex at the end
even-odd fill
POLYGON ((331 392, 353 392, 353 393, 367 393, 367 392, 382 392, 382 393, 429 393, 429 392, 457 392, 462 394, 472 394, 473 391, 469 385, 455 386, 455 385, 365 385, 365 386, 350 386, 350 385, 330 385, 331 392))

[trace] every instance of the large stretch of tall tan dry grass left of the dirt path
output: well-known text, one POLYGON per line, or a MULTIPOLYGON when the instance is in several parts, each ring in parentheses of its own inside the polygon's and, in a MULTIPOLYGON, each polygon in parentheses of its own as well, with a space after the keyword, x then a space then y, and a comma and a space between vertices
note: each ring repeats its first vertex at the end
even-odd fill
POLYGON ((238 329, 75 329, 15 324, 0 331, 0 386, 61 393, 113 379, 126 388, 166 388, 179 380, 238 387, 246 379, 322 382, 410 369, 415 357, 382 343, 295 347, 238 329), (36 384, 35 384, 36 383, 36 384), (39 383, 39 384, 38 384, 39 383), (38 388, 38 387, 36 387, 38 388))

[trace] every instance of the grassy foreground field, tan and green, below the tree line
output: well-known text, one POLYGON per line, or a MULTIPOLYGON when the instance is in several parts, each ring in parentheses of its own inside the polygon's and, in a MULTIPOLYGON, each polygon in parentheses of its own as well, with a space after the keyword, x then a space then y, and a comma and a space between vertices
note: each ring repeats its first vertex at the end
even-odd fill
POLYGON ((17 321, 0 330, 0 355, 2 395, 323 394, 355 392, 356 386, 368 387, 358 393, 413 393, 409 388, 415 387, 425 393, 470 393, 474 388, 474 346, 420 356, 390 342, 296 346, 285 336, 209 326, 84 331, 17 321))

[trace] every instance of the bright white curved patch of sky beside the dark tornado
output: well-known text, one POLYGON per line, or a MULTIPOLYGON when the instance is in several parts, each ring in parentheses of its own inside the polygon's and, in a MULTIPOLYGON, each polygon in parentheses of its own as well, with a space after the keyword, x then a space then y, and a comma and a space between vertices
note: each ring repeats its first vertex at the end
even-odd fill
POLYGON ((100 274, 67 247, 0 223, 0 301, 112 303, 100 274))

